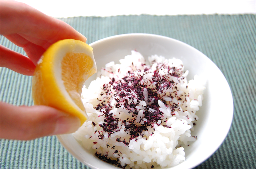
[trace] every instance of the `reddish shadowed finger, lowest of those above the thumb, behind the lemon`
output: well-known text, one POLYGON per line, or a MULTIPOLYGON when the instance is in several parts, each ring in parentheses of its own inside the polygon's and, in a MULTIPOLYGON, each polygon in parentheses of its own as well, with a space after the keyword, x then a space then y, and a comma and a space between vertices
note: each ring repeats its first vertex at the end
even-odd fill
POLYGON ((0 67, 9 68, 24 75, 33 75, 35 64, 26 56, 0 45, 0 67))

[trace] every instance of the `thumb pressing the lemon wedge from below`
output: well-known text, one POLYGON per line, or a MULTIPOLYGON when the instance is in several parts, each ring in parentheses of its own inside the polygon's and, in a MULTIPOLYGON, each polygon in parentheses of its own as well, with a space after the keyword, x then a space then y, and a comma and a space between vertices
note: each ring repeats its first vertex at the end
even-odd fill
POLYGON ((0 138, 31 140, 72 133, 80 127, 77 117, 48 106, 13 106, 0 102, 0 138))

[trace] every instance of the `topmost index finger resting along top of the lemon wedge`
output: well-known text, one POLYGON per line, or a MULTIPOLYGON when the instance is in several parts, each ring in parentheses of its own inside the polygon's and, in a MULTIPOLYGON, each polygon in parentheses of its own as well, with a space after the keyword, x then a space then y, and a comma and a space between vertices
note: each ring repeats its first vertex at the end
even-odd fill
MULTIPOLYGON (((67 23, 49 17, 24 3, 2 1, 0 11, 0 34, 2 35, 22 33, 36 39, 46 40, 50 44, 61 39, 86 42, 86 38, 67 23)), ((49 47, 47 46, 49 44, 45 45, 44 42, 42 44, 41 41, 34 40, 34 43, 43 48, 49 47)))

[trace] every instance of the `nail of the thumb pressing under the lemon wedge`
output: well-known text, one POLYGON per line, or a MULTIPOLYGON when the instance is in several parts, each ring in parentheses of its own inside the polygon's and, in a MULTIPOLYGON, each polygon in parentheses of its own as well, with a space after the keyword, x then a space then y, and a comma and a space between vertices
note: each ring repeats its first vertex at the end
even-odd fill
POLYGON ((80 119, 75 116, 61 116, 57 119, 54 135, 74 133, 80 127, 80 119))

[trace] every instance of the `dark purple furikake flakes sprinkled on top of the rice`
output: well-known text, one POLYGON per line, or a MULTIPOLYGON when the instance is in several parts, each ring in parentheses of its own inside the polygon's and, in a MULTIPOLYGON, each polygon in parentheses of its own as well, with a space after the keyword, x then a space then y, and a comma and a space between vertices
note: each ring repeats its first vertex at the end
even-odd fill
POLYGON ((100 124, 100 127, 108 133, 109 137, 121 128, 118 123, 120 119, 116 118, 111 110, 120 110, 119 113, 124 113, 125 110, 128 117, 125 120, 122 119, 121 125, 124 125, 124 131, 127 131, 130 137, 124 140, 117 139, 117 142, 123 142, 125 145, 129 145, 129 141, 138 136, 143 137, 143 131, 147 131, 148 127, 153 127, 153 124, 160 125, 161 123, 157 122, 164 120, 163 113, 159 110, 158 100, 168 105, 172 113, 179 109, 178 104, 169 104, 170 101, 164 100, 163 96, 170 99, 176 97, 177 100, 185 99, 177 95, 177 83, 172 79, 184 78, 180 68, 156 63, 156 69, 152 71, 149 66, 144 64, 141 66, 144 69, 128 71, 121 79, 112 77, 109 83, 103 85, 102 98, 98 98, 101 101, 97 107, 94 107, 104 113, 104 122, 100 124), (163 69, 168 70, 166 74, 162 74, 163 69), (167 89, 172 89, 173 92, 166 94, 167 89), (111 104, 110 95, 113 95, 116 102, 114 105, 111 104))

